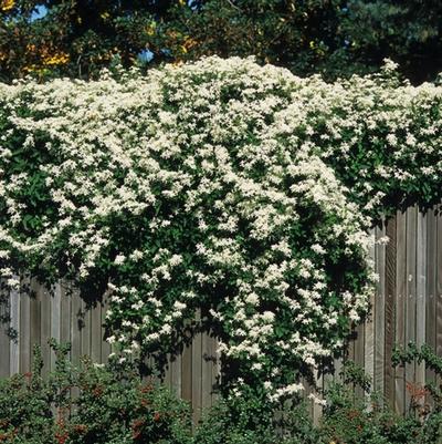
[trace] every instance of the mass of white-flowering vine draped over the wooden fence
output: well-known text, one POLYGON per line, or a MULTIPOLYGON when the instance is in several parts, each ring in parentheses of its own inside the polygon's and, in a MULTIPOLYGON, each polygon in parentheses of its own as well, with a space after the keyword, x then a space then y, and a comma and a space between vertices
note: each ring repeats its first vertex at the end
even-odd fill
POLYGON ((442 89, 210 58, 0 87, 0 261, 106 282, 108 341, 167 350, 201 309, 225 384, 271 399, 367 310, 371 218, 439 195, 442 89))

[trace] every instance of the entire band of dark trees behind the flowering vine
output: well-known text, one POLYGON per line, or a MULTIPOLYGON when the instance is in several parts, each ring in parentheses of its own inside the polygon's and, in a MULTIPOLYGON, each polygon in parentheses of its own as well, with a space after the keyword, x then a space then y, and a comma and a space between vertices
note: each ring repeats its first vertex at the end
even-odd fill
POLYGON ((94 78, 124 65, 255 55, 295 74, 441 71, 442 4, 430 0, 1 0, 0 74, 94 78))

